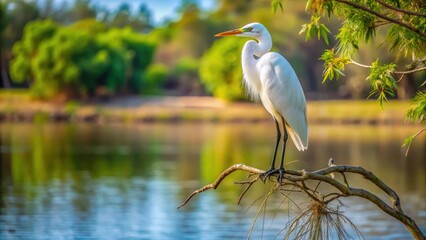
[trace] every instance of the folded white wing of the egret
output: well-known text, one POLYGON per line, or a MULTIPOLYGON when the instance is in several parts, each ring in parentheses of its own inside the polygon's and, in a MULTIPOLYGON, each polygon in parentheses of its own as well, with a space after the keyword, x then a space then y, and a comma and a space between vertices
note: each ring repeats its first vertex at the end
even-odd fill
POLYGON ((291 65, 277 53, 265 54, 260 63, 263 94, 287 122, 287 131, 299 151, 308 148, 306 99, 291 65))

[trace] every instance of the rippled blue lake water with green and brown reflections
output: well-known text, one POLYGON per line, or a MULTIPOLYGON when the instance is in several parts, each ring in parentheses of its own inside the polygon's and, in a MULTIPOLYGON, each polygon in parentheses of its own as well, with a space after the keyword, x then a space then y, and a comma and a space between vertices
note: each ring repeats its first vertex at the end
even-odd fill
MULTIPOLYGON (((426 232, 426 139, 405 158, 403 139, 421 127, 310 128, 309 149, 289 141, 287 168, 363 166, 397 191, 404 211, 426 232)), ((275 128, 256 124, 0 124, 0 239, 278 239, 298 213, 282 196, 266 208, 259 183, 242 192, 230 176, 216 191, 176 207, 235 163, 269 166, 275 128), (256 218, 256 215, 259 216, 256 218), (250 231, 252 224, 254 228, 250 231), (250 233, 251 232, 251 233, 250 233)), ((349 178, 359 187, 379 191, 349 178)), ((295 196, 303 207, 306 199, 295 196)), ((359 198, 346 216, 366 239, 411 239, 405 227, 359 198)), ((349 230, 351 232, 352 230, 349 230)))

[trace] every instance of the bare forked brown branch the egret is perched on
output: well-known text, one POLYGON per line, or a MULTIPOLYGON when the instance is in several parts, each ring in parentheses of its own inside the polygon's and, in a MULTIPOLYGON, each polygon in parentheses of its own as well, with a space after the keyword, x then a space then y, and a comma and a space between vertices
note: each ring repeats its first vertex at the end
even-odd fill
MULTIPOLYGON (((249 174, 251 177, 247 181, 238 182, 239 184, 247 185, 246 189, 243 191, 240 199, 247 192, 247 190, 253 185, 254 182, 260 180, 259 175, 264 171, 258 168, 254 168, 251 166, 246 166, 244 164, 235 164, 223 171, 219 177, 211 184, 208 184, 198 190, 192 192, 188 198, 178 207, 181 208, 185 206, 195 195, 202 193, 209 189, 216 189, 221 182, 232 174, 235 171, 243 171, 249 174)), ((401 208, 401 202, 399 200, 399 196, 396 192, 387 186, 382 180, 380 180, 373 173, 365 170, 362 167, 356 166, 347 166, 347 165, 333 165, 328 168, 320 169, 317 171, 294 171, 294 170, 286 170, 286 174, 284 175, 285 181, 279 183, 275 181, 273 178, 270 178, 275 184, 277 184, 277 189, 282 192, 290 191, 287 186, 291 186, 291 191, 299 191, 304 192, 313 202, 317 202, 326 206, 328 203, 338 200, 340 197, 351 197, 357 196, 364 198, 376 206, 378 206, 382 211, 386 212, 388 215, 394 217, 401 223, 405 225, 407 230, 411 233, 411 235, 415 239, 425 239, 425 235, 420 231, 420 228, 416 224, 416 222, 407 216, 401 208), (340 173, 343 176, 345 174, 356 174, 362 176, 366 181, 369 181, 380 188, 388 197, 389 202, 383 201, 377 195, 361 188, 351 187, 347 182, 346 177, 344 177, 345 182, 341 182, 337 179, 334 179, 330 175, 333 173, 340 173), (318 184, 315 187, 308 186, 305 184, 306 181, 313 180, 317 181, 318 184), (327 183, 334 187, 335 191, 328 194, 322 194, 318 190, 318 186, 320 183, 327 183), (280 185, 281 184, 281 185, 280 185)))

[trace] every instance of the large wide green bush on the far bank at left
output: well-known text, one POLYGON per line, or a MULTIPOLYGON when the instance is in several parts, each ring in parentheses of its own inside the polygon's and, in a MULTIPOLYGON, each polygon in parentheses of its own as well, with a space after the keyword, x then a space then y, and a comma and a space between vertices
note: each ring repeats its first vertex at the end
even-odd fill
POLYGON ((91 97, 99 88, 137 92, 154 48, 130 28, 108 30, 94 19, 67 27, 34 21, 13 47, 10 71, 42 98, 91 97))

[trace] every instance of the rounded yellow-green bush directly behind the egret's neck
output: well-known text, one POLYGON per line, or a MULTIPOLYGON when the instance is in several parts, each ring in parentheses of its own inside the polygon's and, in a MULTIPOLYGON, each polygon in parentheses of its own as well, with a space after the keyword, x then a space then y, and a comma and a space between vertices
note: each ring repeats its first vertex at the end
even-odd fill
POLYGON ((245 40, 217 40, 200 60, 200 80, 213 96, 233 101, 244 99, 243 74, 239 53, 245 40))

